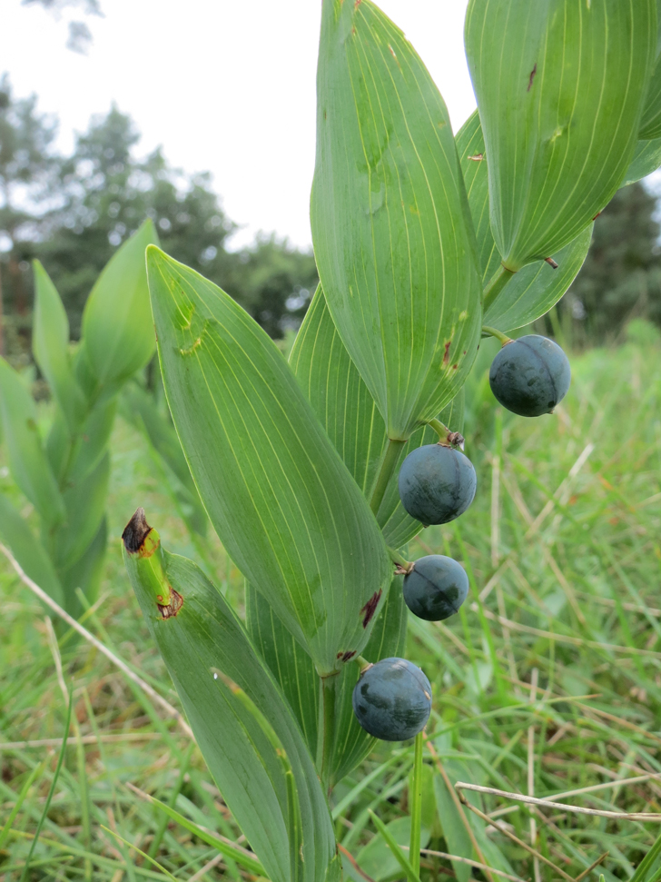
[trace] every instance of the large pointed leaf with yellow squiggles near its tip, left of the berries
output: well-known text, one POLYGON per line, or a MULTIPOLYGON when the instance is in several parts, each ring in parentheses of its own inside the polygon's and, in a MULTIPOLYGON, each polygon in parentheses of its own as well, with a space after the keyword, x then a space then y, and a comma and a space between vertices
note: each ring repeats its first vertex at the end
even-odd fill
POLYGON ((158 249, 147 263, 165 391, 212 524, 318 672, 339 669, 390 585, 376 520, 260 326, 158 249))

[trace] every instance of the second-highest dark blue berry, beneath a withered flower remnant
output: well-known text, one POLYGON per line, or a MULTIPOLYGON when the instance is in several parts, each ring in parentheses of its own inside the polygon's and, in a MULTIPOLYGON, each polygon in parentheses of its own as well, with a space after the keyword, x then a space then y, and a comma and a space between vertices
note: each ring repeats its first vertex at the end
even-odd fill
POLYGON ((423 524, 447 524, 459 518, 475 497, 478 479, 472 462, 461 451, 426 444, 402 462, 401 504, 423 524))

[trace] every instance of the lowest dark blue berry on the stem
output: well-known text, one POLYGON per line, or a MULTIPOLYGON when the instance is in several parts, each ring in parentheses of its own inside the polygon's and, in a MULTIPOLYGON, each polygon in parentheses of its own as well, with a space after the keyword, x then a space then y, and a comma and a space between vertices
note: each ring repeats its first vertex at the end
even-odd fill
POLYGON ((429 680, 406 659, 381 659, 360 675, 353 689, 353 712, 374 738, 414 738, 431 712, 429 680))

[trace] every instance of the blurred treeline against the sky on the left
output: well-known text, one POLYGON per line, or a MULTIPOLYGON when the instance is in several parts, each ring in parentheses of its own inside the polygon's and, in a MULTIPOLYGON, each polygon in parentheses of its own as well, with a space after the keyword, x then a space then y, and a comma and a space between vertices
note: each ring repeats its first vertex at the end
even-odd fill
POLYGON ((36 114, 35 96, 13 98, 6 76, 0 89, 0 282, 7 312, 28 312, 29 260, 39 257, 77 336, 84 302, 104 264, 152 217, 163 248, 232 294, 272 337, 301 321, 317 283, 312 254, 266 235, 229 250, 236 225, 208 173, 174 169, 161 148, 136 158, 140 135, 116 107, 92 120, 71 156, 58 156, 56 124, 36 114))

